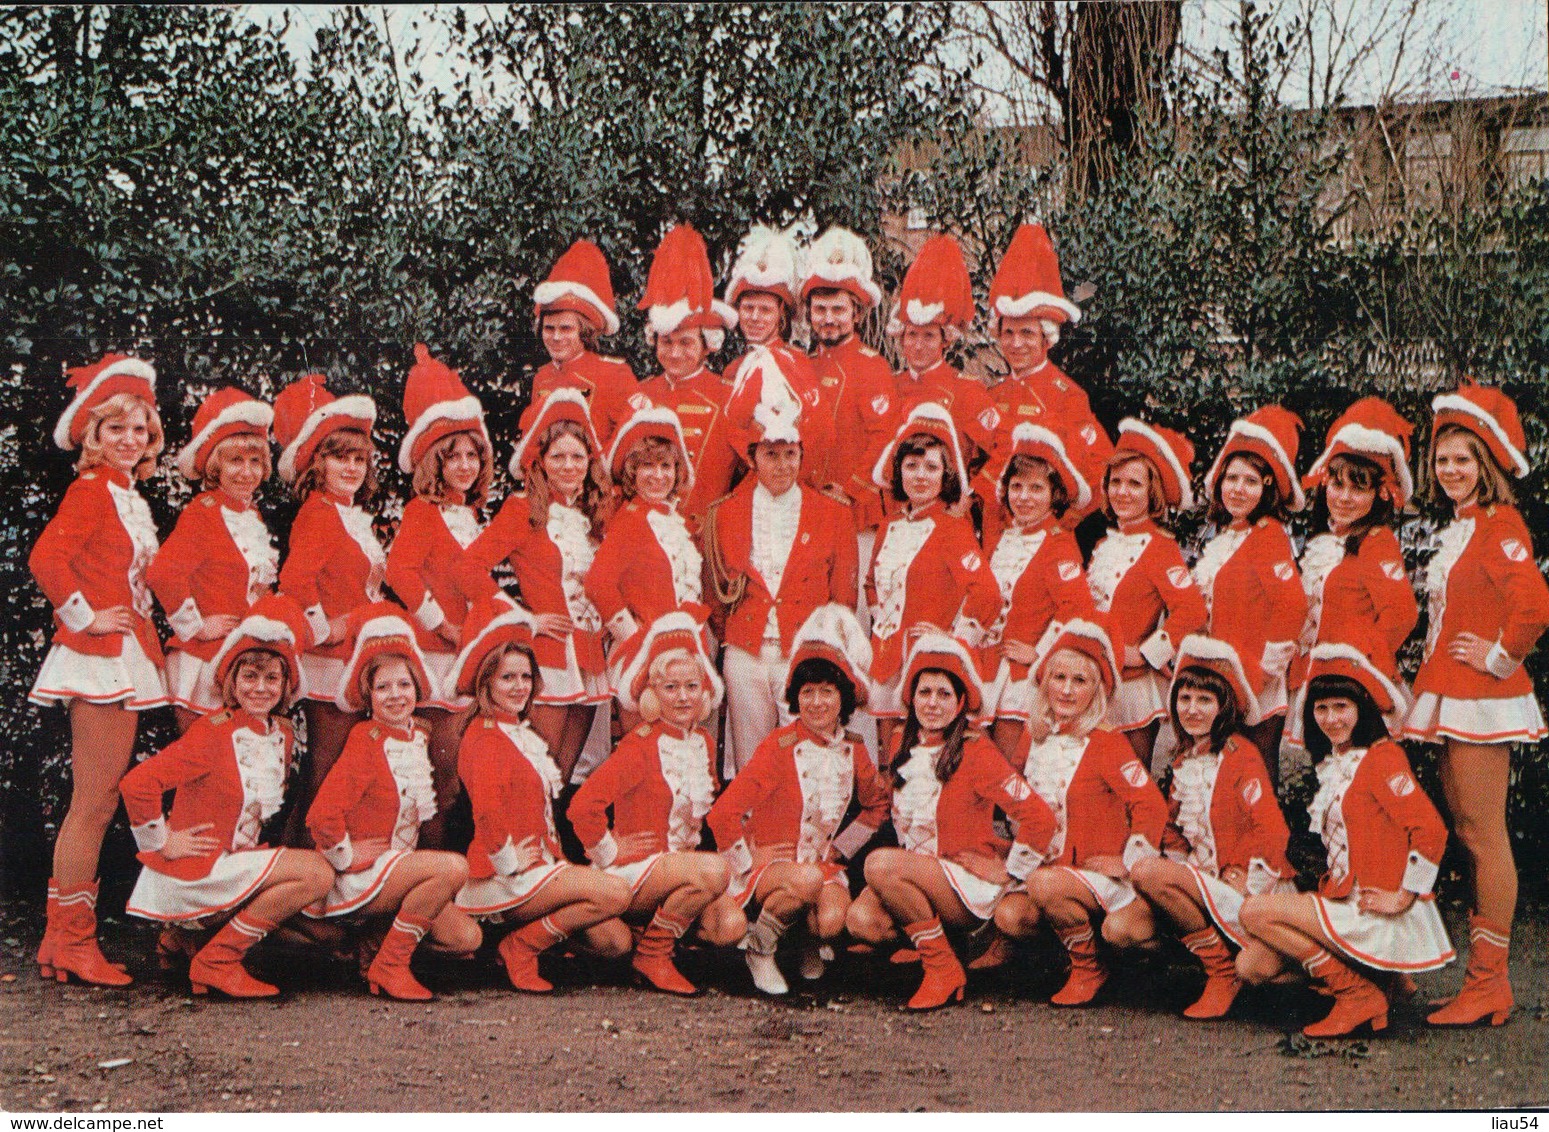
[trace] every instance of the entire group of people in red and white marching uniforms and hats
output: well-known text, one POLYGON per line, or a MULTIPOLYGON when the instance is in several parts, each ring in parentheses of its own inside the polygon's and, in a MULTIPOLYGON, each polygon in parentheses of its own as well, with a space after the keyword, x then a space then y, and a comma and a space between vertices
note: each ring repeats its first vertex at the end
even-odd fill
POLYGON ((1526 441, 1504 393, 1434 401, 1455 514, 1411 692, 1397 653, 1419 610, 1393 530, 1411 427, 1383 401, 1351 406, 1304 479, 1293 413, 1238 420, 1190 568, 1165 523, 1194 506, 1193 446, 1134 418, 1111 443, 1049 361, 1080 310, 1041 228, 991 285, 1007 373, 988 389, 945 361, 974 314, 950 237, 903 280, 898 373, 857 336, 881 293, 850 232, 802 257, 754 229, 725 302, 711 288, 703 240, 669 231, 640 302, 661 373, 641 382, 596 352, 620 325, 601 252, 565 252, 534 294, 550 362, 519 488, 488 525, 480 403, 417 347, 414 499, 387 548, 370 398, 318 375, 273 409, 211 395, 177 458, 201 491, 160 544, 135 486, 163 448, 153 369, 71 372, 56 441, 79 475, 29 559, 56 615, 33 697, 68 708, 73 745, 45 976, 130 982, 94 920, 122 798, 144 864, 129 911, 164 924, 195 993, 274 994, 242 960, 283 929, 353 948, 400 999, 429 997, 421 942, 471 957, 486 937, 519 990, 550 990, 539 955, 568 940, 691 994, 689 934, 740 946, 778 994, 790 934, 807 979, 846 945, 895 948, 923 966, 909 1007, 932 1008, 962 997, 962 932, 982 968, 1047 924, 1070 965, 1058 1005, 1094 1000, 1112 949, 1173 935, 1207 974, 1190 1017, 1300 966, 1334 997, 1307 1033, 1380 1028, 1410 972, 1453 959, 1433 898, 1447 828, 1396 742, 1414 739, 1442 745, 1475 909, 1462 990, 1430 1019, 1506 1019, 1509 756, 1546 736, 1523 658, 1549 587, 1513 508, 1526 441), (788 344, 798 314, 810 353, 788 344), (748 350, 716 373, 739 321, 748 350), (254 508, 271 426, 301 503, 283 562, 254 508), (1109 530, 1083 557, 1097 508, 1109 530), (138 712, 169 703, 181 737, 130 768, 138 712), (1317 760, 1327 870, 1309 894, 1286 858, 1283 743, 1317 760), (460 793, 472 835, 451 846, 460 793))

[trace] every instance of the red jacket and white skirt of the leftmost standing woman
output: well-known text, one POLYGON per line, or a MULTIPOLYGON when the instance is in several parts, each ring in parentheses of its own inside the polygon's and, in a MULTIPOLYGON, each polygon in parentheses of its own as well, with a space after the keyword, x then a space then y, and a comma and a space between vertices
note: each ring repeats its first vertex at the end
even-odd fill
POLYGON ((54 641, 28 695, 33 703, 85 700, 129 711, 167 703, 146 579, 158 545, 150 508, 127 475, 96 466, 70 485, 26 559, 54 607, 54 641), (115 605, 133 612, 133 632, 88 633, 96 615, 115 605))

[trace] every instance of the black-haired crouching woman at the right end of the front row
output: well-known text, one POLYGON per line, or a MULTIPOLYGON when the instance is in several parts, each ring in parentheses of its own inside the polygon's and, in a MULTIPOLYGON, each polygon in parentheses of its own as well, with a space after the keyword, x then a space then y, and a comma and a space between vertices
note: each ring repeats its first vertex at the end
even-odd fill
POLYGON ((1307 1038, 1388 1025, 1388 994, 1365 972, 1434 971, 1455 957, 1431 894, 1447 827, 1388 739, 1383 715, 1397 694, 1358 649, 1314 647, 1303 732, 1321 762, 1307 813, 1329 867, 1317 892, 1248 897, 1239 915, 1250 937, 1238 955, 1244 982, 1269 982, 1290 960, 1334 997, 1307 1038))

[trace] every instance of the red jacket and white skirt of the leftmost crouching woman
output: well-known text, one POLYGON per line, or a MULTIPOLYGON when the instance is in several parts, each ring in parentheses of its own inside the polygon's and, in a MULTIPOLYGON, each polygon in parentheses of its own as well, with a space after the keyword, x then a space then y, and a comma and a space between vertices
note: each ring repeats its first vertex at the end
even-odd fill
POLYGON ((135 767, 118 784, 130 832, 146 866, 129 898, 130 915, 183 926, 234 912, 279 863, 283 849, 262 842, 263 824, 285 801, 285 776, 296 751, 290 723, 245 711, 218 711, 135 767), (161 811, 169 791, 172 816, 161 811), (220 849, 169 859, 172 830, 209 824, 220 849))

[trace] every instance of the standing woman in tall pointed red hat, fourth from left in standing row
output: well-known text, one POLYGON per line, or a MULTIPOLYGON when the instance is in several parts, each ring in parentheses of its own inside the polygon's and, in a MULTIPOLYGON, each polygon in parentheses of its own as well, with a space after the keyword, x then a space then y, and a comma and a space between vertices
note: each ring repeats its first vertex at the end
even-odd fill
MULTIPOLYGON (((466 706, 448 686, 468 616, 460 567, 463 551, 479 537, 479 508, 489 497, 494 465, 479 398, 423 342, 415 344, 414 358, 403 389, 409 431, 398 448, 400 471, 414 477, 414 499, 404 505, 387 548, 386 578, 414 613, 431 672, 432 692, 420 705, 420 719, 431 728, 435 808, 445 815, 457 801, 462 726, 454 712, 466 706)), ((438 818, 421 832, 428 849, 441 847, 441 825, 438 818)))

